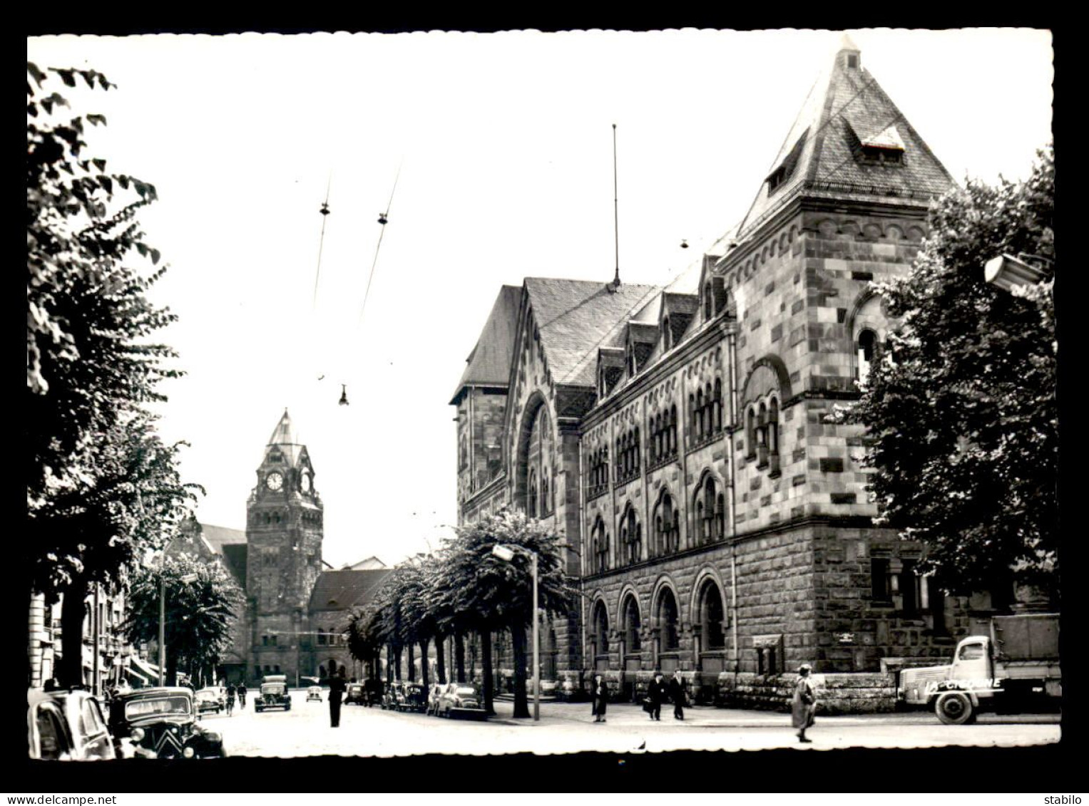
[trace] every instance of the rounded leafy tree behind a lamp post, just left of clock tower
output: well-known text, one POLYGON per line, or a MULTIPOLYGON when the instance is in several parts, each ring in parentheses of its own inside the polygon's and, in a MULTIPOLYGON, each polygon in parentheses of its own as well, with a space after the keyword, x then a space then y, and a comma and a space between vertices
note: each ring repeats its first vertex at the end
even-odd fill
POLYGON ((188 555, 167 556, 160 566, 137 571, 129 591, 125 636, 132 643, 159 640, 160 585, 166 583, 167 684, 178 669, 215 669, 231 644, 242 590, 219 562, 188 555))

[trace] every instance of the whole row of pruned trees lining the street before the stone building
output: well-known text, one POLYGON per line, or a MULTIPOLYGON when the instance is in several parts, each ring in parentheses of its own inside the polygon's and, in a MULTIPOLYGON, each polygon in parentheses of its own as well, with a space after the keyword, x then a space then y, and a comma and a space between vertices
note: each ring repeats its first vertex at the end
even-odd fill
POLYGON ((540 522, 522 512, 504 509, 476 523, 460 526, 438 551, 397 566, 366 607, 353 615, 348 647, 357 659, 374 661, 384 648, 391 667, 402 652, 419 647, 424 684, 429 685, 427 664, 431 642, 439 646, 438 674, 446 682, 441 650, 454 642, 453 673, 465 681, 465 640, 476 634, 482 655, 485 708, 492 704, 493 672, 491 636, 509 630, 514 649, 514 716, 528 717, 526 693, 527 630, 533 627, 531 557, 537 554, 539 604, 542 613, 565 615, 576 591, 562 570, 565 544, 540 522), (492 554, 497 545, 515 546, 514 559, 492 554))

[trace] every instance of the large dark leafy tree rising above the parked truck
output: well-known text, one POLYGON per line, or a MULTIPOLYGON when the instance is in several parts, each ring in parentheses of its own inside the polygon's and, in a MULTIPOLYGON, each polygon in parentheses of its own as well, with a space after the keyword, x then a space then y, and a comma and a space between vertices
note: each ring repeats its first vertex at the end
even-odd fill
POLYGON ((881 522, 919 540, 946 590, 1055 584, 1059 431, 1051 282, 1010 294, 983 264, 1054 259, 1054 157, 1031 177, 969 182, 931 210, 913 271, 877 290, 901 317, 855 414, 881 522))

